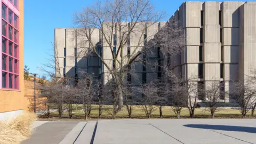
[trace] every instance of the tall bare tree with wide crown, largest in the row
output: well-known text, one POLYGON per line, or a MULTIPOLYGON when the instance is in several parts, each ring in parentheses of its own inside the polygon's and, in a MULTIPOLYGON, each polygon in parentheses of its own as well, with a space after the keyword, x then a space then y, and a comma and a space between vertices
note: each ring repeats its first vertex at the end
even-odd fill
POLYGON ((117 112, 123 107, 127 69, 135 62, 143 62, 140 55, 158 46, 169 54, 177 53, 183 47, 183 29, 171 28, 172 22, 158 33, 157 30, 147 33, 147 29, 165 15, 156 11, 148 0, 99 2, 74 15, 74 23, 79 27, 77 35, 84 37, 84 43, 89 43, 90 50, 86 49, 86 53, 97 55, 113 79, 110 87, 115 93, 113 103, 117 112), (94 41, 93 33, 100 33, 100 42, 94 41), (113 65, 98 53, 99 46, 110 52, 113 65), (127 54, 127 47, 132 47, 130 54, 127 54))

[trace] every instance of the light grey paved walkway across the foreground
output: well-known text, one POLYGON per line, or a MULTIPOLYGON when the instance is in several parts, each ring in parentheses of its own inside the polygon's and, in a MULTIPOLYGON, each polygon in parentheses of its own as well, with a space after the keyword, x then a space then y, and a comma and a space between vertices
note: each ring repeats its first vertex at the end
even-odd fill
POLYGON ((256 143, 255 119, 119 119, 36 122, 32 143, 256 143))

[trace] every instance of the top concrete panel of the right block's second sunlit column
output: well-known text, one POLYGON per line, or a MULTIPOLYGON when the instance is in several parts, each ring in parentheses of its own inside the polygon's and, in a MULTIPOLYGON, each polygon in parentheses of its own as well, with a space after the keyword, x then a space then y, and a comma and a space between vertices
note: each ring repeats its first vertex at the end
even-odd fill
POLYGON ((204 2, 204 25, 219 25, 219 2, 204 2))

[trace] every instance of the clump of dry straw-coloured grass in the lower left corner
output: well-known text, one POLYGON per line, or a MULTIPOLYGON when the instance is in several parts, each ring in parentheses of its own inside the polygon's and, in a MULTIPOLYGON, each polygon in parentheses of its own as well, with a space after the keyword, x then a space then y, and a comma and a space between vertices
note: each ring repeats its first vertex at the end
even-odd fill
POLYGON ((12 121, 0 121, 0 143, 20 143, 29 138, 31 134, 31 124, 36 120, 34 113, 21 114, 12 121))

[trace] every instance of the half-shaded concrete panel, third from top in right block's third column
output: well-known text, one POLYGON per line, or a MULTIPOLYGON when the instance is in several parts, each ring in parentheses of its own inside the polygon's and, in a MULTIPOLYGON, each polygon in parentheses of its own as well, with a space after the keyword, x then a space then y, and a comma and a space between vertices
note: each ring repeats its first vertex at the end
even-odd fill
POLYGON ((225 63, 239 62, 239 46, 223 46, 223 61, 225 63))

